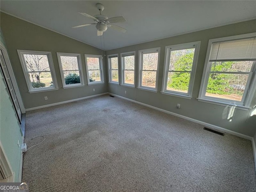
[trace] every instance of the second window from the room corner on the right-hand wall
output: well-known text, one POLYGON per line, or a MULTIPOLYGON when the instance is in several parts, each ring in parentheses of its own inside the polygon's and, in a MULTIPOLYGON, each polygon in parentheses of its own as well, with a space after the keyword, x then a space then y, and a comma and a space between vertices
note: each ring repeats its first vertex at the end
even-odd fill
POLYGON ((134 86, 135 52, 122 53, 122 85, 134 86))

